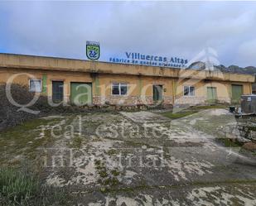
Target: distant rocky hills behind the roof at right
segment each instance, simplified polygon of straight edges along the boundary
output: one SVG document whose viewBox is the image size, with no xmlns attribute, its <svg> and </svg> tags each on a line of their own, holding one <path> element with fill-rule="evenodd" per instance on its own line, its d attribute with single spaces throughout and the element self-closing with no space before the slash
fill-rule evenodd
<svg viewBox="0 0 256 206">
<path fill-rule="evenodd" d="M 188 66 L 187 69 L 206 69 L 205 62 L 196 61 Z M 230 72 L 230 73 L 239 73 L 239 74 L 254 74 L 256 75 L 256 67 L 247 66 L 247 67 L 239 67 L 237 65 L 230 65 L 229 67 L 225 67 L 225 65 L 211 65 L 214 70 L 220 70 L 222 72 Z"/>
</svg>

